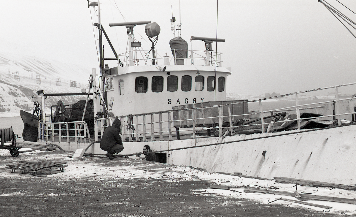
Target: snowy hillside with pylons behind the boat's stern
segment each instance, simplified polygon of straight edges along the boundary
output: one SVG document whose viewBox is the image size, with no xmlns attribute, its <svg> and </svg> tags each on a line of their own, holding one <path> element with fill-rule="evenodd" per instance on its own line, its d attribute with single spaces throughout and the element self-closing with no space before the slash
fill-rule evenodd
<svg viewBox="0 0 356 217">
<path fill-rule="evenodd" d="M 18 74 L 18 76 L 16 76 Z M 20 110 L 32 112 L 31 96 L 38 90 L 45 93 L 80 93 L 87 88 L 91 69 L 27 55 L 0 52 L 0 117 L 19 116 Z M 57 86 L 60 81 L 61 86 Z M 69 87 L 71 81 L 77 88 Z M 58 100 L 64 104 L 85 97 L 48 97 L 48 106 Z"/>
</svg>

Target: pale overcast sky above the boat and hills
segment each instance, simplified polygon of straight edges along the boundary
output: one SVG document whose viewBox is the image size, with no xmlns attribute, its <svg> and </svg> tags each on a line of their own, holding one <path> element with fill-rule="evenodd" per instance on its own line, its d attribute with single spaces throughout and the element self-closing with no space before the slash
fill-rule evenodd
<svg viewBox="0 0 356 217">
<path fill-rule="evenodd" d="M 339 1 L 356 11 L 355 0 Z M 0 40 L 7 44 L 6 48 L 0 45 L 1 51 L 12 47 L 12 53 L 99 68 L 93 33 L 97 29 L 92 26 L 95 16 L 86 0 L 0 2 Z M 191 36 L 216 37 L 216 0 L 180 2 L 182 37 L 188 49 Z M 335 0 L 328 2 L 343 9 Z M 127 33 L 125 27 L 109 27 L 112 22 L 157 22 L 161 33 L 156 48 L 169 49 L 173 38 L 169 20 L 173 11 L 179 22 L 178 0 L 100 3 L 102 24 L 117 53 L 125 52 Z M 355 14 L 347 15 L 356 22 Z M 219 0 L 217 25 L 218 38 L 226 40 L 218 43 L 217 50 L 223 53 L 223 66 L 232 72 L 227 92 L 285 94 L 356 82 L 356 38 L 317 0 Z M 135 37 L 149 49 L 144 27 L 135 27 Z M 193 46 L 204 49 L 200 41 Z M 116 64 L 107 63 L 109 67 Z M 356 89 L 349 91 L 356 93 Z"/>
</svg>

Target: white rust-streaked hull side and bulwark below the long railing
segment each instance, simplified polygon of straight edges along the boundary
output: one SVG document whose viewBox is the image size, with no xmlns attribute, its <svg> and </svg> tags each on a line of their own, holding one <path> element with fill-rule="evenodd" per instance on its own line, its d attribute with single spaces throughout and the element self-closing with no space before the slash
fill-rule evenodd
<svg viewBox="0 0 356 217">
<path fill-rule="evenodd" d="M 291 131 L 288 131 L 290 133 Z M 298 132 L 292 135 L 168 151 L 167 163 L 205 168 L 208 172 L 241 172 L 242 175 L 276 176 L 352 185 L 356 182 L 356 126 Z M 268 135 L 236 135 L 222 141 L 260 138 Z M 155 151 L 216 144 L 218 138 L 124 143 L 120 154 L 142 152 L 143 145 Z M 265 152 L 265 156 L 262 153 Z M 354 160 L 355 159 L 355 160 Z"/>
</svg>

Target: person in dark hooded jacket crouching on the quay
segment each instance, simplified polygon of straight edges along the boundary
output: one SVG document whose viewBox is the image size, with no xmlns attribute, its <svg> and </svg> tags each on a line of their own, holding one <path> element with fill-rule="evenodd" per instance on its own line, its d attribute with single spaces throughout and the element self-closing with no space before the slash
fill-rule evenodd
<svg viewBox="0 0 356 217">
<path fill-rule="evenodd" d="M 101 150 L 108 151 L 106 156 L 109 157 L 110 160 L 114 159 L 115 155 L 124 150 L 124 146 L 122 146 L 121 140 L 121 122 L 119 119 L 115 119 L 112 123 L 112 126 L 108 126 L 103 135 L 101 136 L 100 148 Z"/>
</svg>

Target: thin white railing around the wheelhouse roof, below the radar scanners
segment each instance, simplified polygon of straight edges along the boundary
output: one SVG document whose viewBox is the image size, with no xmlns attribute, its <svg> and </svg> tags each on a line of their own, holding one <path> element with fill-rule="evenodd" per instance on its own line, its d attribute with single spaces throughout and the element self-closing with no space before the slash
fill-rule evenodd
<svg viewBox="0 0 356 217">
<path fill-rule="evenodd" d="M 221 55 L 222 53 L 214 51 L 198 51 L 198 50 L 179 50 L 187 51 L 187 58 L 175 58 L 176 51 L 178 50 L 155 50 L 155 63 L 156 65 L 176 65 L 180 60 L 184 60 L 184 65 L 199 65 L 199 66 L 222 66 Z M 130 52 L 132 59 L 130 59 Z M 147 66 L 152 65 L 152 50 L 133 50 L 121 53 L 118 55 L 120 59 L 119 65 L 123 67 L 130 66 L 133 63 L 134 66 Z M 175 53 L 174 56 L 173 53 Z"/>
</svg>

